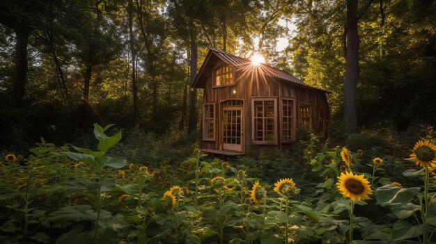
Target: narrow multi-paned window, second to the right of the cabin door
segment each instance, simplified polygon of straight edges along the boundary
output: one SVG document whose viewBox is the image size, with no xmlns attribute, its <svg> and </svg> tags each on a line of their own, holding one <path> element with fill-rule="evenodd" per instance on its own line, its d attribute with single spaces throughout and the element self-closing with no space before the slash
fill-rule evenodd
<svg viewBox="0 0 436 244">
<path fill-rule="evenodd" d="M 289 142 L 294 140 L 295 130 L 295 115 L 294 115 L 294 100 L 281 100 L 281 140 Z"/>
</svg>

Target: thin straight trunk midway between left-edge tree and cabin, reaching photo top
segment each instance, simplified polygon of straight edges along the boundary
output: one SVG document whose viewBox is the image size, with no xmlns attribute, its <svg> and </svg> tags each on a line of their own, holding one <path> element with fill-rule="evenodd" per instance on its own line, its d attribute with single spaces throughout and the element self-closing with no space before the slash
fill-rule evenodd
<svg viewBox="0 0 436 244">
<path fill-rule="evenodd" d="M 129 0 L 129 35 L 130 35 L 130 52 L 132 53 L 132 90 L 133 90 L 133 123 L 137 127 L 138 124 L 138 84 L 137 84 L 137 54 L 134 49 L 134 35 L 133 35 L 133 0 Z"/>
</svg>

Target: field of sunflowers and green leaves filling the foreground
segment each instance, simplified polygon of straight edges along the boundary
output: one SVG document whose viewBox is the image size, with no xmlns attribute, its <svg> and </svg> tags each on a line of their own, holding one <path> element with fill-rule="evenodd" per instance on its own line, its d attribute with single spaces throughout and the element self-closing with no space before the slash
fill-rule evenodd
<svg viewBox="0 0 436 244">
<path fill-rule="evenodd" d="M 176 163 L 42 140 L 0 163 L 1 243 L 434 243 L 436 145 L 403 158 L 346 145 L 306 163 L 192 150 Z M 309 148 L 309 147 L 307 147 Z"/>
</svg>

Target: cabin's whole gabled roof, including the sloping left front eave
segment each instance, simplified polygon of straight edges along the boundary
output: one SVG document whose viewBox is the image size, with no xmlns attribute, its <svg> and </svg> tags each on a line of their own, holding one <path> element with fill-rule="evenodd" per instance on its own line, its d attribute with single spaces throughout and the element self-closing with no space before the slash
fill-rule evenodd
<svg viewBox="0 0 436 244">
<path fill-rule="evenodd" d="M 215 49 L 213 47 L 208 47 L 208 49 L 209 49 L 209 52 L 208 52 L 208 55 L 206 55 L 206 58 L 203 62 L 203 65 L 201 65 L 200 70 L 198 71 L 198 74 L 196 75 L 195 79 L 192 80 L 192 82 L 190 83 L 191 87 L 198 86 L 198 81 L 201 79 L 203 71 L 205 69 L 207 69 L 206 67 L 208 66 L 208 63 L 209 63 L 210 58 L 212 57 L 212 54 L 214 56 L 217 56 L 219 59 L 223 60 L 224 63 L 226 63 L 228 65 L 235 66 L 236 68 L 238 68 L 238 70 L 245 70 L 247 66 L 251 65 L 251 60 L 249 60 L 247 58 L 235 56 L 233 54 L 229 54 L 226 51 Z M 276 67 L 272 67 L 270 65 L 266 65 L 266 64 L 261 63 L 259 65 L 259 69 L 263 70 L 265 76 L 270 76 L 271 78 L 274 78 L 274 79 L 288 81 L 291 83 L 295 83 L 298 86 L 304 86 L 306 88 L 312 88 L 312 89 L 316 89 L 316 90 L 322 90 L 324 92 L 329 92 L 327 90 L 316 88 L 315 86 L 310 86 L 310 85 L 304 83 L 303 81 L 301 81 L 300 79 L 298 79 L 297 77 L 293 76 L 292 74 L 289 74 L 288 72 L 283 71 L 283 70 L 279 70 Z"/>
</svg>

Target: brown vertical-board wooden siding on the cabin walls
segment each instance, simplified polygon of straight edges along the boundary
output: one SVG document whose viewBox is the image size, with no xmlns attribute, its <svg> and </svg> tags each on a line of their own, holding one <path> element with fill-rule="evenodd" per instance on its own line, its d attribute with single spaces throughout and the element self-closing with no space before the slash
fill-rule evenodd
<svg viewBox="0 0 436 244">
<path fill-rule="evenodd" d="M 279 79 L 273 79 L 269 76 L 265 77 L 260 74 L 256 75 L 256 72 L 247 72 L 238 70 L 235 67 L 235 83 L 231 86 L 215 87 L 215 69 L 224 65 L 224 62 L 217 60 L 215 64 L 205 69 L 207 74 L 207 80 L 205 82 L 205 88 L 203 93 L 203 102 L 215 102 L 215 141 L 205 141 L 201 140 L 201 148 L 204 149 L 221 149 L 222 141 L 222 107 L 221 102 L 230 99 L 241 99 L 243 101 L 243 121 L 244 121 L 244 152 L 246 154 L 250 153 L 250 149 L 254 142 L 251 140 L 251 99 L 252 98 L 267 98 L 274 97 L 277 99 L 277 111 L 276 116 L 279 124 L 277 125 L 278 134 L 278 145 L 281 145 L 281 98 L 291 98 L 295 99 L 295 111 L 294 116 L 296 117 L 295 129 L 293 133 L 296 133 L 296 127 L 298 127 L 299 121 L 299 104 L 311 104 L 311 128 L 315 133 L 323 134 L 327 136 L 327 130 L 323 129 L 318 131 L 318 112 L 321 109 L 325 117 L 324 126 L 327 127 L 327 121 L 329 119 L 329 108 L 327 104 L 327 98 L 325 91 L 316 90 L 312 88 L 306 88 L 298 86 L 289 81 L 283 81 Z M 242 76 L 242 74 L 244 74 Z M 203 119 L 201 120 L 203 123 Z M 201 128 L 203 129 L 203 128 Z M 257 147 L 257 146 L 256 146 Z"/>
</svg>

